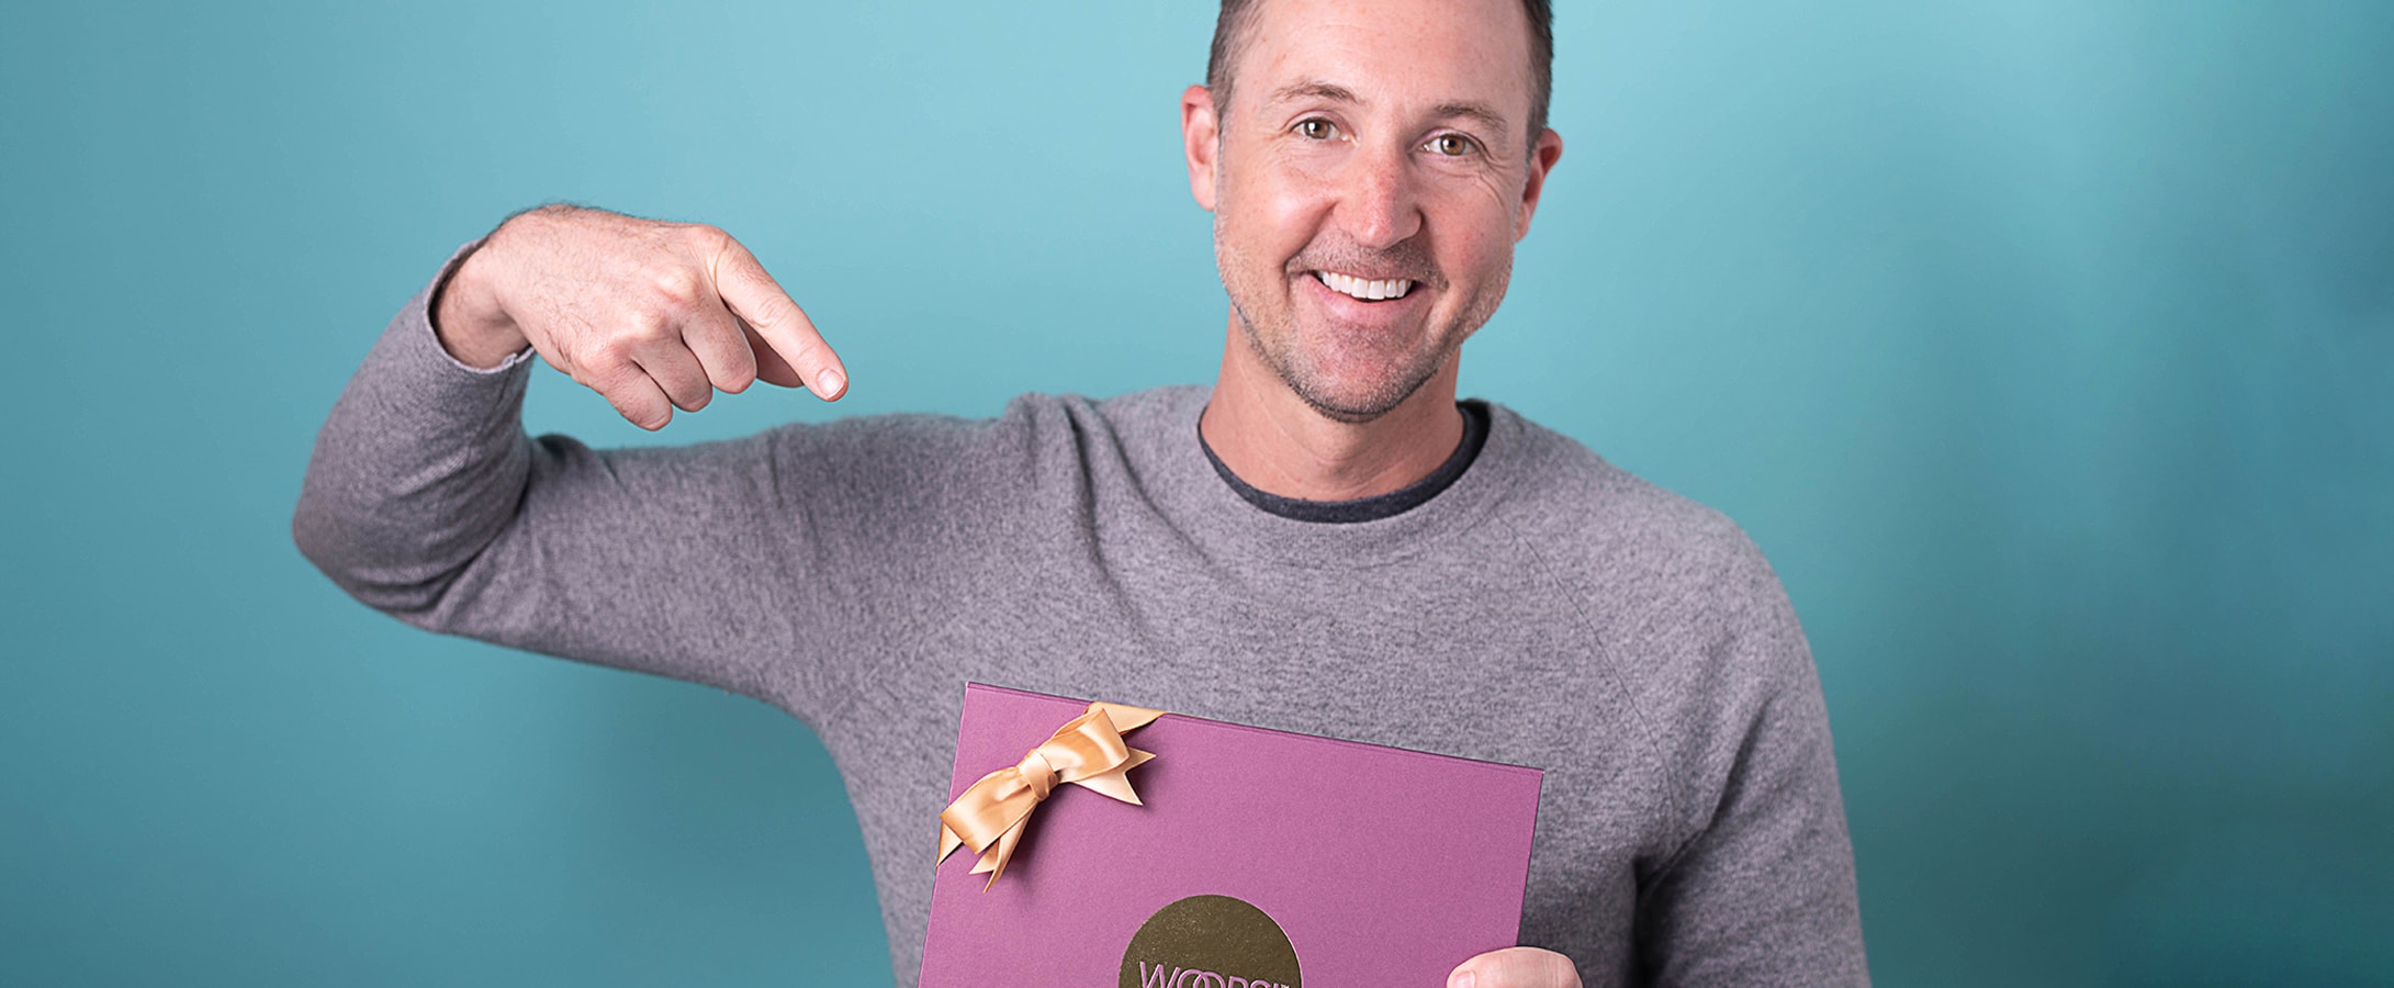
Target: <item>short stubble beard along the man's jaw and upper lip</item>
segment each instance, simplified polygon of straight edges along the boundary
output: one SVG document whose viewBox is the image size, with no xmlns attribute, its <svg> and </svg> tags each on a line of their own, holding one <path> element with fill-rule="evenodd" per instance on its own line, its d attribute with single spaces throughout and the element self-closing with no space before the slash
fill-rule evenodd
<svg viewBox="0 0 2394 988">
<path fill-rule="evenodd" d="M 1448 328 L 1451 333 L 1432 335 L 1434 340 L 1439 340 L 1439 344 L 1417 349 L 1400 368 L 1396 368 L 1396 373 L 1374 380 L 1362 395 L 1336 395 L 1329 380 L 1324 380 L 1324 373 L 1317 366 L 1312 366 L 1312 361 L 1307 361 L 1310 354 L 1305 354 L 1302 347 L 1295 344 L 1298 337 L 1295 306 L 1271 311 L 1269 306 L 1257 304 L 1269 299 L 1269 292 L 1288 294 L 1290 292 L 1288 282 L 1295 278 L 1312 278 L 1310 273 L 1298 270 L 1298 268 L 1312 270 L 1312 266 L 1302 261 L 1302 254 L 1298 261 L 1290 261 L 1290 266 L 1286 266 L 1278 273 L 1278 282 L 1247 285 L 1245 273 L 1254 270 L 1254 266 L 1250 266 L 1245 261 L 1245 254 L 1231 246 L 1231 239 L 1223 237 L 1221 211 L 1216 211 L 1214 266 L 1221 273 L 1223 292 L 1231 297 L 1231 313 L 1238 316 L 1240 335 L 1247 337 L 1247 349 L 1254 352 L 1254 356 L 1264 366 L 1269 366 L 1274 376 L 1281 378 L 1281 385 L 1286 385 L 1293 395 L 1298 395 L 1298 400 L 1305 402 L 1310 409 L 1314 409 L 1324 419 L 1350 426 L 1377 421 L 1379 416 L 1396 411 L 1396 407 L 1405 404 L 1405 400 L 1410 400 L 1417 390 L 1422 390 L 1422 385 L 1427 385 L 1429 378 L 1436 378 L 1439 371 L 1446 371 L 1446 364 L 1453 361 L 1456 354 L 1463 349 L 1463 340 L 1468 340 L 1472 333 L 1487 325 L 1489 316 L 1496 313 L 1496 304 L 1503 301 L 1506 285 L 1513 280 L 1513 258 L 1506 258 L 1503 266 L 1494 273 L 1494 282 L 1487 285 L 1482 292 L 1477 292 L 1477 297 L 1470 299 L 1463 313 L 1456 316 L 1453 325 Z M 1420 266 L 1427 268 L 1427 258 L 1422 258 Z M 1338 270 L 1338 266 L 1329 268 Z M 1436 285 L 1439 289 L 1446 287 L 1446 280 L 1436 278 L 1434 270 L 1424 273 L 1429 278 L 1422 278 L 1424 285 L 1415 287 L 1417 292 L 1432 285 Z M 1271 333 L 1257 328 L 1254 318 L 1257 311 L 1278 316 L 1274 325 L 1269 325 Z"/>
</svg>

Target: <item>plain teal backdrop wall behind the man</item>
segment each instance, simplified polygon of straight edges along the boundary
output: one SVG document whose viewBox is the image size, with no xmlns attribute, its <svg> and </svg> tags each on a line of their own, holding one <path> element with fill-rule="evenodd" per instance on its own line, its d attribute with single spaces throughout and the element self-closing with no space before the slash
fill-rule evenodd
<svg viewBox="0 0 2394 988">
<path fill-rule="evenodd" d="M 309 440 L 551 199 L 733 230 L 855 390 L 651 438 L 541 371 L 536 431 L 1207 380 L 1209 26 L 10 2 L 0 983 L 886 983 L 802 725 L 350 603 L 290 545 Z M 2394 2 L 1556 33 L 1568 153 L 1465 390 L 1772 555 L 1879 983 L 2394 983 Z"/>
</svg>

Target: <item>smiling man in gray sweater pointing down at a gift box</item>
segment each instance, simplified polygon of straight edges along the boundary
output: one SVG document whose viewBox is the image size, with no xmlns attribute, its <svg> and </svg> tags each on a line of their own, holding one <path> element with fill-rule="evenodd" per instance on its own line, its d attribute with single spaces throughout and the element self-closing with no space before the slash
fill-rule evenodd
<svg viewBox="0 0 2394 988">
<path fill-rule="evenodd" d="M 527 354 L 661 428 L 847 371 L 713 227 L 517 215 L 369 354 L 294 533 L 414 624 L 807 720 L 900 981 L 962 682 L 1547 770 L 1525 947 L 1453 986 L 1858 983 L 1827 715 L 1719 514 L 1456 402 L 1563 144 L 1542 0 L 1231 0 L 1180 100 L 1231 297 L 1211 390 L 994 421 L 527 440 Z M 1458 828 L 1472 821 L 1456 821 Z"/>
</svg>

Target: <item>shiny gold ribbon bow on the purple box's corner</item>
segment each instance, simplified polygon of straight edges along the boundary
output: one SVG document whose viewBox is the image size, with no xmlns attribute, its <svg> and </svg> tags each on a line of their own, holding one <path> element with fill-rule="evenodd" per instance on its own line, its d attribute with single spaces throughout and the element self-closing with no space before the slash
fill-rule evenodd
<svg viewBox="0 0 2394 988">
<path fill-rule="evenodd" d="M 989 890 L 1005 873 L 1005 859 L 1022 842 L 1022 828 L 1032 811 L 1049 792 L 1056 792 L 1058 782 L 1082 785 L 1142 806 L 1140 794 L 1130 789 L 1130 770 L 1154 754 L 1132 749 L 1123 734 L 1147 727 L 1161 715 L 1163 710 L 1137 706 L 1089 703 L 1087 713 L 1058 727 L 1056 737 L 1022 756 L 1022 763 L 982 775 L 938 813 L 938 861 L 946 861 L 958 847 L 972 844 L 974 852 L 982 852 L 972 873 L 986 871 L 989 885 L 982 890 Z"/>
</svg>

